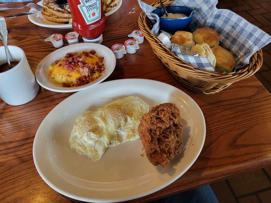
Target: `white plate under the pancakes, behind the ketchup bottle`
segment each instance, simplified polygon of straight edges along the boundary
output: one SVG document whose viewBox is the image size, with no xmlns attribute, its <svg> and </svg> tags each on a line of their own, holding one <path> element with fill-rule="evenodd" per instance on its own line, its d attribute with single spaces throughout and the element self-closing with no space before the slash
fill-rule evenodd
<svg viewBox="0 0 271 203">
<path fill-rule="evenodd" d="M 42 6 L 42 1 L 38 2 L 37 4 Z M 115 13 L 119 7 L 122 6 L 122 0 L 119 0 L 119 3 L 118 5 L 116 5 L 111 11 L 107 12 L 105 14 L 105 16 L 109 16 L 113 13 Z M 34 9 L 30 9 L 29 12 L 32 12 L 32 11 L 35 11 Z M 49 28 L 58 28 L 58 29 L 71 29 L 72 28 L 72 24 L 67 24 L 67 23 L 56 23 L 56 22 L 51 22 L 51 21 L 48 21 L 46 20 L 41 12 L 37 12 L 37 13 L 34 13 L 32 15 L 28 15 L 28 19 L 29 21 L 31 21 L 33 24 L 35 25 L 38 25 L 38 26 L 41 26 L 41 27 L 49 27 Z"/>
</svg>

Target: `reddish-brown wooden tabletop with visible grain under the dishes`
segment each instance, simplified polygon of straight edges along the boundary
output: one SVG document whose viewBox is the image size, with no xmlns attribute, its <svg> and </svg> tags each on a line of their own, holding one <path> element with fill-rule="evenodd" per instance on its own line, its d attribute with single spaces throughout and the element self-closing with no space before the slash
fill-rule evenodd
<svg viewBox="0 0 271 203">
<path fill-rule="evenodd" d="M 0 15 L 27 10 L 0 12 Z M 138 28 L 140 12 L 137 1 L 123 1 L 122 7 L 108 17 L 103 45 L 110 47 L 129 39 L 127 35 Z M 44 39 L 52 33 L 65 35 L 71 31 L 39 27 L 29 22 L 27 16 L 7 19 L 7 26 L 8 43 L 24 50 L 34 73 L 38 63 L 56 50 Z M 123 78 L 152 79 L 179 88 L 196 101 L 206 121 L 203 150 L 189 171 L 168 187 L 131 202 L 147 202 L 271 162 L 271 96 L 255 76 L 216 94 L 195 93 L 170 75 L 145 40 L 136 54 L 117 59 L 116 68 L 107 81 Z M 35 133 L 42 120 L 71 94 L 41 88 L 25 105 L 10 106 L 0 101 L 0 202 L 75 202 L 41 179 L 32 155 Z"/>
</svg>

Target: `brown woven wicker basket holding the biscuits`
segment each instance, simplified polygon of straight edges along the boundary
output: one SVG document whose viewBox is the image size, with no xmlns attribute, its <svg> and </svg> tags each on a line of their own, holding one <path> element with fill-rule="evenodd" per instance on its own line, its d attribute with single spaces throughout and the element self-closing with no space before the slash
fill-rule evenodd
<svg viewBox="0 0 271 203">
<path fill-rule="evenodd" d="M 163 1 L 169 5 L 173 0 Z M 152 4 L 160 7 L 160 3 Z M 250 59 L 250 63 L 242 70 L 232 73 L 217 73 L 202 71 L 190 63 L 182 60 L 172 53 L 150 30 L 153 23 L 142 11 L 139 15 L 138 24 L 145 38 L 152 46 L 153 51 L 167 67 L 168 71 L 185 87 L 200 93 L 211 94 L 220 92 L 232 83 L 246 79 L 256 73 L 262 65 L 262 50 L 258 50 Z"/>
</svg>

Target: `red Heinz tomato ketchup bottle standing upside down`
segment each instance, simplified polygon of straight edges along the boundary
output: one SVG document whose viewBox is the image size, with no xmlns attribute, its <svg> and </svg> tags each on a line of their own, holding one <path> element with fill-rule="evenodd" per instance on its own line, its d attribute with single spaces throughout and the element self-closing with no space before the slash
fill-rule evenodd
<svg viewBox="0 0 271 203">
<path fill-rule="evenodd" d="M 87 39 L 101 37 L 106 27 L 102 0 L 68 0 L 72 14 L 72 26 Z"/>
</svg>

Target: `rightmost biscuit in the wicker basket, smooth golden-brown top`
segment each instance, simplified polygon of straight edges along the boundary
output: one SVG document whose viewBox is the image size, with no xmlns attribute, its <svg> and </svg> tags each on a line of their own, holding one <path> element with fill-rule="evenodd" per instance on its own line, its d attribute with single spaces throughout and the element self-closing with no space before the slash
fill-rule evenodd
<svg viewBox="0 0 271 203">
<path fill-rule="evenodd" d="M 233 55 L 223 49 L 221 46 L 216 46 L 212 49 L 214 55 L 216 56 L 216 69 L 218 72 L 232 72 L 233 67 L 236 64 L 236 60 Z"/>
</svg>

